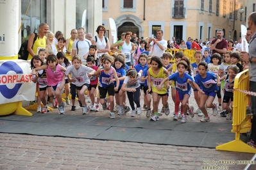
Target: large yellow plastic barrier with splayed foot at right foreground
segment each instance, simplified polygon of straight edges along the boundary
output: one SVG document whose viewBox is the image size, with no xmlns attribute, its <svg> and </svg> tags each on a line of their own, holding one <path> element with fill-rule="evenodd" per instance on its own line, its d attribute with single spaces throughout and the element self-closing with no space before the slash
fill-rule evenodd
<svg viewBox="0 0 256 170">
<path fill-rule="evenodd" d="M 235 77 L 234 89 L 249 90 L 249 83 L 249 72 L 248 70 L 244 70 Z M 235 133 L 235 140 L 217 146 L 216 150 L 256 153 L 255 148 L 252 148 L 252 146 L 249 146 L 240 139 L 241 133 L 246 133 L 252 128 L 252 116 L 246 116 L 248 97 L 250 96 L 234 90 L 233 123 L 231 132 Z"/>
</svg>

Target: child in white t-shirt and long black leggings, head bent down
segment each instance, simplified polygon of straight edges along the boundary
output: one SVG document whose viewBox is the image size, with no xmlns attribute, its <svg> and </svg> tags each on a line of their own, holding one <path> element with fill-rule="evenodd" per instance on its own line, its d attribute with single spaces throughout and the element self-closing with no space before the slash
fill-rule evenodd
<svg viewBox="0 0 256 170">
<path fill-rule="evenodd" d="M 142 70 L 137 73 L 137 71 L 134 68 L 131 68 L 127 71 L 126 77 L 124 79 L 123 85 L 121 90 L 127 91 L 127 97 L 130 102 L 130 106 L 132 107 L 132 113 L 131 116 L 135 116 L 135 106 L 134 102 L 137 105 L 137 113 L 138 115 L 141 114 L 141 104 L 139 100 L 139 94 L 140 94 L 140 84 L 139 79 L 141 78 Z"/>
</svg>

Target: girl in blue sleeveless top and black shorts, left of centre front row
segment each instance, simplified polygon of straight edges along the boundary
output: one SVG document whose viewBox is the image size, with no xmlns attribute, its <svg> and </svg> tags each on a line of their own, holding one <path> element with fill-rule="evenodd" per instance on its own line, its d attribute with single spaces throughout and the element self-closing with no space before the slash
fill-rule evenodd
<svg viewBox="0 0 256 170">
<path fill-rule="evenodd" d="M 105 97 L 108 93 L 110 102 L 110 119 L 115 118 L 114 95 L 115 91 L 117 91 L 119 87 L 119 79 L 117 77 L 117 73 L 115 72 L 115 68 L 111 66 L 113 62 L 113 57 L 106 53 L 104 56 L 101 56 L 101 63 L 103 66 L 100 66 L 97 72 L 94 73 L 94 75 L 99 74 L 99 97 L 104 111 L 107 109 L 107 100 L 105 100 Z M 113 76 L 115 78 L 116 87 L 112 81 Z"/>
</svg>

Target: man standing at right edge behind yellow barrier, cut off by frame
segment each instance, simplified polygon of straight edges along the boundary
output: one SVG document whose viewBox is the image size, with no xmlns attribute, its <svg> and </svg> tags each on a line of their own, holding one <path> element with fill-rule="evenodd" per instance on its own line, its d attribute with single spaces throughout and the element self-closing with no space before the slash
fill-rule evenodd
<svg viewBox="0 0 256 170">
<path fill-rule="evenodd" d="M 248 17 L 248 27 L 252 31 L 252 36 L 249 42 L 249 55 L 247 52 L 242 52 L 241 57 L 243 61 L 249 61 L 249 77 L 250 77 L 250 91 L 256 92 L 256 12 L 253 12 Z M 250 146 L 256 148 L 256 97 L 251 96 L 252 99 L 252 140 L 248 142 Z"/>
</svg>

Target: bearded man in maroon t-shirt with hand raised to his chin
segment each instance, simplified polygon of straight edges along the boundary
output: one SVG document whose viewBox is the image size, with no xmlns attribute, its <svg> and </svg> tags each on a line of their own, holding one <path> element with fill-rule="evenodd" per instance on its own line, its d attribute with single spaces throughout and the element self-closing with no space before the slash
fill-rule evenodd
<svg viewBox="0 0 256 170">
<path fill-rule="evenodd" d="M 212 50 L 212 55 L 214 53 L 219 53 L 221 56 L 226 52 L 228 48 L 228 42 L 223 38 L 224 33 L 221 29 L 217 31 L 217 38 L 212 40 L 210 43 L 210 50 Z"/>
</svg>

